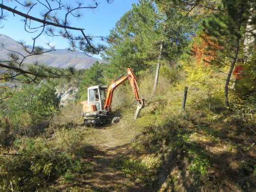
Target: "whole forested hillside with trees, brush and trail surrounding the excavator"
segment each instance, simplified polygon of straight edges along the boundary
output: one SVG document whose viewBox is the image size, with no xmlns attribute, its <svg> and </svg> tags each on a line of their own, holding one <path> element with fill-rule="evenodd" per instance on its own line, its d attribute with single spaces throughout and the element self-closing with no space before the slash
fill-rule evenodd
<svg viewBox="0 0 256 192">
<path fill-rule="evenodd" d="M 23 83 L 1 102 L 0 191 L 256 191 L 255 7 L 139 0 L 110 31 L 105 63 Z M 139 118 L 127 82 L 114 91 L 119 123 L 84 124 L 87 88 L 127 68 Z M 79 90 L 64 107 L 63 87 Z"/>
</svg>

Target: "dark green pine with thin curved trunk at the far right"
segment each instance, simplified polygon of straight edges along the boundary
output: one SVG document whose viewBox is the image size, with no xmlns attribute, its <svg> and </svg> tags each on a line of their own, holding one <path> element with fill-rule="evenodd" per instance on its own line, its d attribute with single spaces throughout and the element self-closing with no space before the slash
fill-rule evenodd
<svg viewBox="0 0 256 192">
<path fill-rule="evenodd" d="M 214 62 L 230 66 L 225 83 L 225 105 L 227 107 L 229 107 L 228 88 L 232 71 L 238 59 L 244 59 L 243 44 L 249 11 L 250 1 L 226 0 L 219 5 L 218 12 L 203 22 L 204 33 L 213 37 L 215 44 L 218 45 L 218 49 L 216 46 L 209 46 L 209 49 L 216 51 Z"/>
</svg>

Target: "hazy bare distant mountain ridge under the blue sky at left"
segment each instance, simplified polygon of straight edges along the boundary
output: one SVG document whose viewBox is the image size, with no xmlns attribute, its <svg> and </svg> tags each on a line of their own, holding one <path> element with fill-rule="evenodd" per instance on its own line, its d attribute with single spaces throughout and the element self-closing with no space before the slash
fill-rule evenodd
<svg viewBox="0 0 256 192">
<path fill-rule="evenodd" d="M 5 48 L 8 50 L 16 51 L 23 55 L 28 55 L 25 51 L 23 51 L 22 46 L 18 44 L 17 41 L 12 38 L 1 35 L 0 36 L 0 44 L 4 44 Z M 29 46 L 32 48 L 32 46 Z M 48 51 L 50 49 L 45 49 Z M 2 45 L 0 48 L 0 58 L 8 59 L 9 51 L 3 49 Z M 32 63 L 33 61 L 44 62 L 47 66 L 57 67 L 57 68 L 68 68 L 75 67 L 76 69 L 87 69 L 90 68 L 95 61 L 103 62 L 100 59 L 95 57 L 89 57 L 81 52 L 71 52 L 66 49 L 57 49 L 56 51 L 51 51 L 49 53 L 44 53 L 40 56 L 31 56 L 26 59 L 26 63 Z"/>
</svg>

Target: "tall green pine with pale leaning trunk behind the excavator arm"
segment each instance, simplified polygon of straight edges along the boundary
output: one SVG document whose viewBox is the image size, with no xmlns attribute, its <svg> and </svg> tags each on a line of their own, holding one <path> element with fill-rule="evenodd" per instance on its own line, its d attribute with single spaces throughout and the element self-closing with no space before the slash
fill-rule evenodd
<svg viewBox="0 0 256 192">
<path fill-rule="evenodd" d="M 111 40 L 109 48 L 102 55 L 110 63 L 106 71 L 121 74 L 127 67 L 135 73 L 156 69 L 154 94 L 160 64 L 180 55 L 189 40 L 185 28 L 176 25 L 178 22 L 177 17 L 167 18 L 166 12 L 160 14 L 154 1 L 140 0 L 134 4 L 108 37 Z"/>
</svg>

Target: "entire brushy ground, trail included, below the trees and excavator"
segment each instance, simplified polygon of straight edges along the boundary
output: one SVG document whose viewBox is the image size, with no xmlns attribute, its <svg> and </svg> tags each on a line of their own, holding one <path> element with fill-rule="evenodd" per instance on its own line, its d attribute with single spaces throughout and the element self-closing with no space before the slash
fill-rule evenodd
<svg viewBox="0 0 256 192">
<path fill-rule="evenodd" d="M 121 108 L 115 129 L 79 125 L 79 103 L 67 105 L 0 147 L 0 191 L 256 191 L 255 101 L 231 92 L 226 109 L 220 84 L 203 80 L 183 111 L 185 86 L 161 83 L 136 121 Z"/>
</svg>

